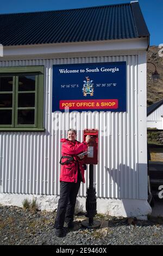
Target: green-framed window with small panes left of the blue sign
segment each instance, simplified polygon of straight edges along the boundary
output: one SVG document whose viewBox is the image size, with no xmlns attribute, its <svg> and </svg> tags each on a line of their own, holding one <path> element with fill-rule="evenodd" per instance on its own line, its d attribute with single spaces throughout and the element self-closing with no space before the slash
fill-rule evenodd
<svg viewBox="0 0 163 256">
<path fill-rule="evenodd" d="M 0 130 L 44 130 L 43 66 L 0 68 Z"/>
</svg>

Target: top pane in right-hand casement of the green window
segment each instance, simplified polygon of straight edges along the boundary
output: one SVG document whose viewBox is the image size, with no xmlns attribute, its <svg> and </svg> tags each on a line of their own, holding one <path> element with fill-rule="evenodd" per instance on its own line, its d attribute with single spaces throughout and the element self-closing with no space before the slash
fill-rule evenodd
<svg viewBox="0 0 163 256">
<path fill-rule="evenodd" d="M 35 76 L 18 76 L 18 90 L 35 90 Z"/>
</svg>

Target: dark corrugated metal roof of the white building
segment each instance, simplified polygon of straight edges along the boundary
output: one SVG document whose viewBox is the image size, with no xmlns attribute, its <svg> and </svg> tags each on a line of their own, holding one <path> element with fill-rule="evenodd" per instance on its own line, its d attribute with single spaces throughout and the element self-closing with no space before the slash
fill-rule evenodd
<svg viewBox="0 0 163 256">
<path fill-rule="evenodd" d="M 138 20 L 132 8 L 136 8 Z M 139 34 L 137 27 L 140 26 Z M 149 36 L 149 32 L 139 3 L 0 15 L 3 46 L 127 39 L 142 35 Z"/>
</svg>

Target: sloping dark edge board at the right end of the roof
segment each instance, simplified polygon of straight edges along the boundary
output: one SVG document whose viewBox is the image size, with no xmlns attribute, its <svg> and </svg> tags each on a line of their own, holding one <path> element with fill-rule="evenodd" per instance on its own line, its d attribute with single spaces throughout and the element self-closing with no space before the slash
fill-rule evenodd
<svg viewBox="0 0 163 256">
<path fill-rule="evenodd" d="M 145 19 L 143 18 L 139 2 L 138 1 L 135 1 L 135 2 L 131 1 L 130 3 L 131 3 L 131 10 L 133 12 L 133 17 L 134 17 L 134 21 L 135 21 L 137 35 L 139 37 L 147 37 L 148 38 L 148 47 L 149 47 L 150 34 L 149 34 L 149 31 L 148 31 Z"/>
</svg>

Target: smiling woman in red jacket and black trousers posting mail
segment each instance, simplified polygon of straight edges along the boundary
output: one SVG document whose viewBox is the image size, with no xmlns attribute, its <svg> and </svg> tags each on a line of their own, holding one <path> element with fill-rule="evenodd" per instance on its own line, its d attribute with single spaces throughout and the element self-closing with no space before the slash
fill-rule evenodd
<svg viewBox="0 0 163 256">
<path fill-rule="evenodd" d="M 73 228 L 74 208 L 80 182 L 84 179 L 84 156 L 78 154 L 87 151 L 87 143 L 91 136 L 86 136 L 85 142 L 76 141 L 76 130 L 70 129 L 67 132 L 67 139 L 61 139 L 61 174 L 60 174 L 60 199 L 58 202 L 57 216 L 55 218 L 55 234 L 64 236 L 64 222 L 68 228 Z"/>
</svg>

